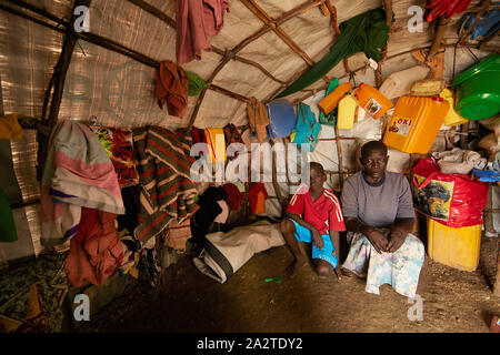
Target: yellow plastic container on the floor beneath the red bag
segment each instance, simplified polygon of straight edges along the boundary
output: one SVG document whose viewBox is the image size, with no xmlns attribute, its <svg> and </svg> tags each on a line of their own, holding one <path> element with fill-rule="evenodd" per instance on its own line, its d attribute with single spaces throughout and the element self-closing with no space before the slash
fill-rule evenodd
<svg viewBox="0 0 500 355">
<path fill-rule="evenodd" d="M 427 219 L 429 256 L 441 264 L 474 271 L 479 263 L 482 224 L 453 229 Z"/>
</svg>

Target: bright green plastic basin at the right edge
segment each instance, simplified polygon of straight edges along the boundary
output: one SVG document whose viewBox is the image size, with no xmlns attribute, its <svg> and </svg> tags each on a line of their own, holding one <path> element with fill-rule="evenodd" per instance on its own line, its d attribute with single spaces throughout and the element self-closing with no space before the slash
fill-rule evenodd
<svg viewBox="0 0 500 355">
<path fill-rule="evenodd" d="M 491 54 L 453 80 L 456 111 L 469 120 L 483 120 L 500 111 L 500 55 Z"/>
</svg>

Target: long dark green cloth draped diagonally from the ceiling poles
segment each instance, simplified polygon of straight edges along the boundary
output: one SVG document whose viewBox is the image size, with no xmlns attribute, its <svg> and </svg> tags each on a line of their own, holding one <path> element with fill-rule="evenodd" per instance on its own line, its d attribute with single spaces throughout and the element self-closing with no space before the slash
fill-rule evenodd
<svg viewBox="0 0 500 355">
<path fill-rule="evenodd" d="M 336 44 L 314 67 L 309 69 L 290 87 L 279 93 L 276 99 L 292 94 L 307 88 L 336 67 L 343 58 L 349 58 L 360 51 L 367 57 L 379 61 L 382 57 L 379 48 L 383 48 L 389 40 L 389 27 L 386 23 L 386 12 L 374 9 L 360 13 L 339 27 L 340 37 Z"/>
</svg>

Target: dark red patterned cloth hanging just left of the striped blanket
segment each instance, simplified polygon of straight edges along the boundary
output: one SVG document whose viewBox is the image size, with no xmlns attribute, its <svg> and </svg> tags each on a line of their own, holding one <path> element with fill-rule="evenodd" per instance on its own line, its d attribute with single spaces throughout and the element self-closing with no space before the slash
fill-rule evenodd
<svg viewBox="0 0 500 355">
<path fill-rule="evenodd" d="M 90 130 L 113 163 L 120 187 L 137 185 L 139 175 L 133 160 L 132 131 L 97 125 L 90 125 Z"/>
</svg>

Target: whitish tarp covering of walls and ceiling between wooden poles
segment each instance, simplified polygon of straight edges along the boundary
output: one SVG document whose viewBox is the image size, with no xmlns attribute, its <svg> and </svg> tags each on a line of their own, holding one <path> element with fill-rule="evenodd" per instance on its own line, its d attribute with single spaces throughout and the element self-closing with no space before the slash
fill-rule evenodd
<svg viewBox="0 0 500 355">
<path fill-rule="evenodd" d="M 72 1 L 66 0 L 31 0 L 58 17 L 69 19 Z M 171 18 L 174 14 L 173 0 L 148 0 L 148 3 L 160 9 Z M 268 11 L 272 18 L 281 17 L 304 0 L 259 0 L 259 6 Z M 410 6 L 424 7 L 424 0 L 393 1 L 396 23 L 388 44 L 388 59 L 382 64 L 382 75 L 411 68 L 418 64 L 411 57 L 411 49 L 429 47 L 432 36 L 429 24 L 423 21 L 423 31 L 410 33 L 407 23 L 411 18 L 408 12 Z M 474 0 L 471 7 L 477 7 Z M 370 9 L 381 7 L 380 0 L 339 0 L 333 4 L 338 10 L 338 23 Z M 444 39 L 454 42 L 457 39 L 457 21 L 452 19 Z M 224 27 L 219 36 L 211 38 L 212 45 L 221 50 L 231 50 L 242 40 L 256 33 L 263 23 L 253 16 L 240 1 L 231 1 L 230 12 L 224 17 Z M 319 61 L 334 43 L 336 34 L 330 23 L 330 17 L 321 14 L 318 8 L 292 18 L 281 24 L 293 41 L 313 60 Z M 176 31 L 163 21 L 141 10 L 134 4 L 123 1 L 94 0 L 90 8 L 90 31 L 111 39 L 124 47 L 136 50 L 154 61 L 176 59 Z M 62 47 L 62 34 L 33 23 L 14 14 L 0 10 L 0 78 L 4 113 L 18 113 L 39 118 L 42 111 L 44 91 L 52 75 L 53 67 Z M 498 40 L 491 45 L 498 44 Z M 488 55 L 488 52 L 464 48 L 453 50 L 449 47 L 444 54 L 444 79 L 450 80 L 453 73 L 474 63 L 477 59 Z M 400 53 L 404 53 L 399 55 Z M 281 81 L 290 82 L 298 73 L 307 68 L 306 62 L 294 53 L 273 31 L 269 31 L 258 40 L 246 45 L 238 55 L 253 60 L 271 72 Z M 476 57 L 474 57 L 476 55 Z M 184 64 L 186 70 L 197 72 L 202 79 L 209 79 L 219 65 L 222 57 L 214 52 L 203 52 L 202 60 Z M 454 63 L 454 68 L 453 68 Z M 366 82 L 374 85 L 374 72 L 367 67 L 367 58 L 358 53 L 349 59 L 351 70 L 356 71 L 356 83 Z M 363 69 L 364 68 L 364 69 Z M 339 77 L 346 82 L 348 75 L 342 63 L 329 73 L 329 78 Z M 188 111 L 184 118 L 171 116 L 167 110 L 160 110 L 154 94 L 154 69 L 122 54 L 111 52 L 104 48 L 79 40 L 74 48 L 69 67 L 64 92 L 60 108 L 60 119 L 89 120 L 96 116 L 99 124 L 131 128 L 147 124 L 159 124 L 169 129 L 186 126 L 192 115 L 197 97 L 189 98 Z M 243 97 L 256 97 L 259 100 L 270 100 L 281 87 L 278 82 L 264 75 L 254 67 L 239 61 L 229 63 L 216 75 L 213 84 L 231 90 Z M 307 100 L 313 91 L 316 97 L 304 101 L 317 111 L 313 101 L 322 98 L 321 90 L 327 83 L 319 80 L 304 91 L 287 98 L 290 102 Z M 313 91 L 311 91 L 313 90 Z M 248 123 L 244 102 L 234 100 L 221 93 L 208 90 L 201 102 L 194 121 L 197 128 L 224 126 L 232 122 L 236 125 Z M 381 136 L 381 121 L 366 116 L 358 122 L 353 130 L 340 130 L 340 135 L 356 140 L 342 140 L 342 163 L 344 172 L 351 172 L 356 166 L 356 150 L 362 141 Z M 437 138 L 434 150 L 444 150 L 444 131 Z M 334 130 L 324 126 L 320 133 L 321 140 L 336 138 Z M 29 230 L 37 244 L 39 232 L 38 204 L 30 205 L 39 199 L 38 182 L 34 175 L 37 151 L 34 132 L 26 131 L 21 142 L 12 142 L 14 153 L 16 176 L 21 185 L 23 201 L 28 206 Z M 404 172 L 409 168 L 409 154 L 390 150 L 389 170 Z M 338 153 L 334 141 L 320 141 L 310 160 L 318 161 L 332 173 L 329 174 L 327 185 L 339 190 Z M 287 186 L 280 184 L 283 195 Z M 276 196 L 272 183 L 267 183 L 269 195 Z M 276 199 L 267 202 L 268 213 L 280 215 L 279 203 Z M 28 211 L 29 210 L 29 211 Z M 0 247 L 0 252 L 3 246 Z M 0 254 L 0 257 L 1 254 Z M 4 256 L 3 256 L 4 257 Z M 7 256 L 9 257 L 9 256 Z M 0 258 L 1 261 L 1 258 Z"/>
</svg>

